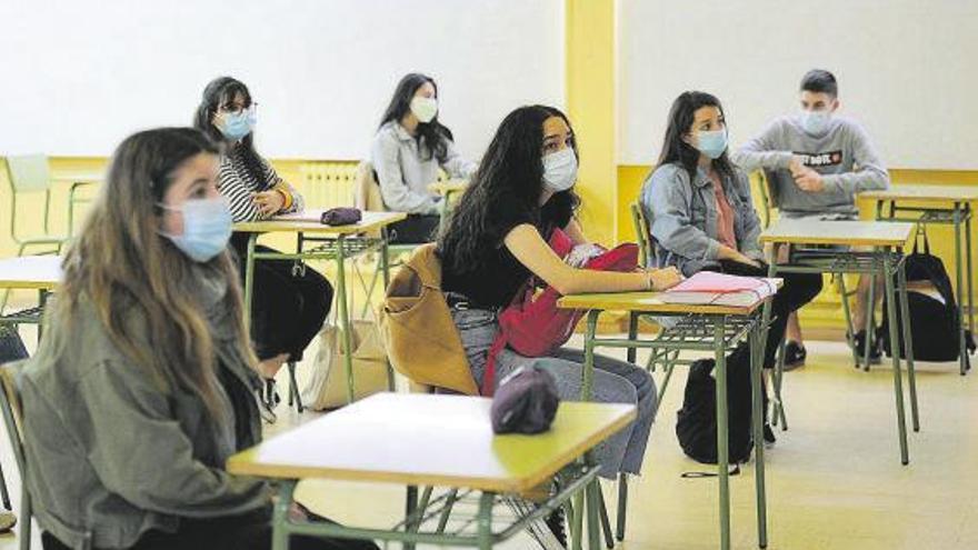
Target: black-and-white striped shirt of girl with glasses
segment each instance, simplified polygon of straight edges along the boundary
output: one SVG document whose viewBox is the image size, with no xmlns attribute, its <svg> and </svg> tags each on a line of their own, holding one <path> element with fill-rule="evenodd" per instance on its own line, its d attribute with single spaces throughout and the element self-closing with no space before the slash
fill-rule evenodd
<svg viewBox="0 0 978 550">
<path fill-rule="evenodd" d="M 261 179 L 255 178 L 248 171 L 244 161 L 244 148 L 238 143 L 234 144 L 227 154 L 221 157 L 221 163 L 218 168 L 218 191 L 228 198 L 231 203 L 231 218 L 234 222 L 255 221 L 267 219 L 280 213 L 300 212 L 305 209 L 302 196 L 290 186 L 286 180 L 279 178 L 271 164 L 262 159 Z M 262 214 L 251 193 L 270 191 L 280 188 L 292 196 L 292 204 L 273 214 Z M 288 201 L 287 201 L 288 202 Z"/>
</svg>

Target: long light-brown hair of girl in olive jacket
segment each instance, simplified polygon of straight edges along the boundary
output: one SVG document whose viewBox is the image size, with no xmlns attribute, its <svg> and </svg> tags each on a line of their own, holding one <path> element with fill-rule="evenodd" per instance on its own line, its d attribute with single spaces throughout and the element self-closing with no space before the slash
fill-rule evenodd
<svg viewBox="0 0 978 550">
<path fill-rule="evenodd" d="M 91 304 L 111 341 L 161 391 L 176 388 L 200 397 L 220 422 L 214 343 L 194 292 L 200 271 L 160 236 L 160 203 L 173 176 L 198 154 L 218 149 L 192 128 L 161 128 L 127 138 L 116 149 L 108 179 L 63 260 L 63 283 L 44 320 L 48 350 L 70 356 L 64 342 L 81 302 Z M 227 282 L 223 308 L 233 323 L 238 351 L 257 366 L 244 330 L 238 274 L 230 253 L 202 266 Z M 133 322 L 134 321 L 134 322 Z M 47 346 L 42 346 L 44 348 Z"/>
</svg>

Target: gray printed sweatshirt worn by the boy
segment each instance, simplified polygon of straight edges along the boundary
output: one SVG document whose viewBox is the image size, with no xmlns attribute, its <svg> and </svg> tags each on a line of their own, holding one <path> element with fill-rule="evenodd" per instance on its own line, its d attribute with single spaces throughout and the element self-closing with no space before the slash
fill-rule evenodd
<svg viewBox="0 0 978 550">
<path fill-rule="evenodd" d="M 795 183 L 788 170 L 792 154 L 822 176 L 821 192 L 802 191 Z M 781 117 L 731 158 L 748 172 L 764 169 L 775 206 L 788 217 L 855 214 L 856 193 L 886 189 L 890 182 L 866 131 L 842 117 L 832 117 L 824 136 L 806 133 L 798 116 Z"/>
</svg>

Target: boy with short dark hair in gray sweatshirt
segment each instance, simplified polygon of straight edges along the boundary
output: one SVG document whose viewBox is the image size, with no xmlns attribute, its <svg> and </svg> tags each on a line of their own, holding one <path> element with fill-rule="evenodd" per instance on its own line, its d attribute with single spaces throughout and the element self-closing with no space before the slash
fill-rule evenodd
<svg viewBox="0 0 978 550">
<path fill-rule="evenodd" d="M 866 131 L 857 122 L 835 116 L 839 88 L 829 71 L 814 69 L 801 79 L 801 112 L 780 117 L 736 153 L 745 171 L 762 169 L 771 198 L 787 218 L 841 216 L 856 218 L 856 193 L 886 189 L 886 167 Z M 866 346 L 866 311 L 870 278 L 861 277 L 856 294 L 856 344 Z M 876 292 L 879 298 L 882 292 Z M 805 363 L 801 328 L 792 313 L 787 329 L 786 367 Z M 872 338 L 872 334 L 869 336 Z M 879 362 L 879 347 L 870 342 L 870 362 Z M 860 354 L 861 357 L 861 354 Z"/>
</svg>

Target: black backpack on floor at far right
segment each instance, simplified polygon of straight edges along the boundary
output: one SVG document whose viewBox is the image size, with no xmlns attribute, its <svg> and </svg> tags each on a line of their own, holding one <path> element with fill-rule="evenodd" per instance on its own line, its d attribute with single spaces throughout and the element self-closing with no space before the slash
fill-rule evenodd
<svg viewBox="0 0 978 550">
<path fill-rule="evenodd" d="M 924 253 L 920 253 L 918 248 L 919 239 L 915 239 L 914 253 L 904 260 L 906 262 L 907 282 L 929 282 L 940 294 L 941 299 L 939 300 L 922 292 L 907 292 L 907 303 L 910 312 L 910 337 L 914 339 L 914 359 L 921 361 L 957 361 L 961 352 L 958 336 L 961 326 L 958 319 L 958 304 L 955 300 L 951 280 L 940 258 L 930 253 L 930 242 L 927 239 L 927 233 L 920 230 L 918 231 L 918 237 L 920 234 L 924 236 Z M 894 277 L 894 288 L 897 288 L 896 284 L 897 279 Z M 885 300 L 882 306 L 882 324 L 877 329 L 877 336 L 882 344 L 882 350 L 887 356 L 892 357 L 888 317 L 889 306 Z M 898 351 L 900 359 L 906 359 L 904 357 L 904 321 L 901 317 L 898 303 L 896 308 Z M 975 342 L 970 331 L 967 331 L 965 334 L 965 344 L 969 352 L 975 350 Z"/>
</svg>

